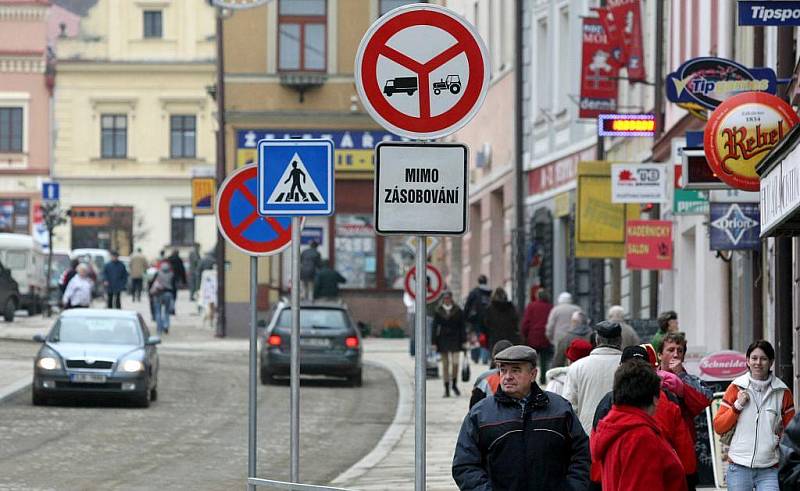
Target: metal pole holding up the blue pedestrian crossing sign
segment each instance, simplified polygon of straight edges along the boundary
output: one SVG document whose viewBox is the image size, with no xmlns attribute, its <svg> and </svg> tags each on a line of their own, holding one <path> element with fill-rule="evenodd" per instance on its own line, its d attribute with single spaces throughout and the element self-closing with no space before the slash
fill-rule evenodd
<svg viewBox="0 0 800 491">
<path fill-rule="evenodd" d="M 290 481 L 300 482 L 300 217 L 292 217 L 292 359 Z"/>
</svg>

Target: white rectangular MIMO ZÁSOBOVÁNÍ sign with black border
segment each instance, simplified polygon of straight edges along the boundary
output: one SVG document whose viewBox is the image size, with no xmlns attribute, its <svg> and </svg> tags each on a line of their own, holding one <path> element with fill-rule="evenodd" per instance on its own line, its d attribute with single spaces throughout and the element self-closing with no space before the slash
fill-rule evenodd
<svg viewBox="0 0 800 491">
<path fill-rule="evenodd" d="M 382 142 L 375 149 L 375 231 L 462 235 L 467 231 L 467 146 Z"/>
</svg>

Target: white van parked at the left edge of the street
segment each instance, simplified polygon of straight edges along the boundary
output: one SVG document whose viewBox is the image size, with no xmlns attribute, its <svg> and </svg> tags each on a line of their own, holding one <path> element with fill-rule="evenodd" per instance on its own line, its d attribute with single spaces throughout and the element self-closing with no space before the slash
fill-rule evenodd
<svg viewBox="0 0 800 491">
<path fill-rule="evenodd" d="M 47 255 L 30 235 L 0 233 L 0 262 L 19 285 L 19 308 L 34 315 L 47 297 Z"/>
</svg>

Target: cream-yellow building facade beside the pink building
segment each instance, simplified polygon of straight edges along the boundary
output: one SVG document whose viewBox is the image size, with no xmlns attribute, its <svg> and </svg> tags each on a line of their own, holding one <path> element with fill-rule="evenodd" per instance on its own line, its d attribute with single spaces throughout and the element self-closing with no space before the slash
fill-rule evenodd
<svg viewBox="0 0 800 491">
<path fill-rule="evenodd" d="M 99 0 L 78 13 L 77 32 L 65 24 L 57 39 L 52 177 L 71 216 L 56 247 L 212 248 L 191 178 L 213 175 L 214 9 Z"/>
</svg>

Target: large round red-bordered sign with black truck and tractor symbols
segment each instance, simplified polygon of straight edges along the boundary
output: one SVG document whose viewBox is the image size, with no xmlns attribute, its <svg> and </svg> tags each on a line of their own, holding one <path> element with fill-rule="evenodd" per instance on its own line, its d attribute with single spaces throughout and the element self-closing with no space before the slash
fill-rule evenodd
<svg viewBox="0 0 800 491">
<path fill-rule="evenodd" d="M 356 88 L 384 128 L 409 138 L 449 135 L 478 112 L 489 57 L 475 28 L 438 5 L 400 7 L 378 19 L 358 47 Z"/>
</svg>

